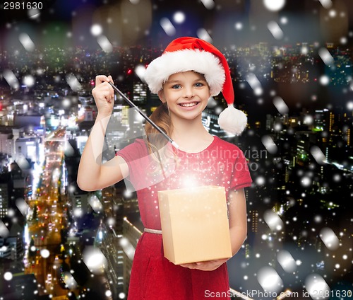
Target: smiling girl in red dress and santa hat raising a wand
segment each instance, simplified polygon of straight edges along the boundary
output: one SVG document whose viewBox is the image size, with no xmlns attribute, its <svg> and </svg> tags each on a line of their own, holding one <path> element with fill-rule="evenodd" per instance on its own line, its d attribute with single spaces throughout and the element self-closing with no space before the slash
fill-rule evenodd
<svg viewBox="0 0 353 300">
<path fill-rule="evenodd" d="M 188 185 L 223 186 L 229 210 L 232 254 L 244 243 L 244 188 L 251 185 L 244 154 L 234 144 L 210 134 L 201 119 L 208 99 L 222 91 L 229 106 L 220 115 L 220 126 L 234 134 L 240 134 L 246 126 L 246 116 L 233 106 L 234 91 L 227 60 L 204 40 L 180 37 L 172 41 L 162 56 L 150 63 L 145 81 L 162 102 L 150 118 L 172 137 L 179 149 L 159 138 L 157 130 L 146 123 L 146 140 L 136 139 L 118 151 L 111 161 L 100 164 L 96 163 L 97 154 L 102 153 L 114 105 L 114 91 L 109 81 L 112 82 L 111 76 L 97 76 L 92 90 L 98 113 L 81 157 L 78 185 L 83 190 L 98 190 L 128 178 L 137 190 L 145 232 L 136 247 L 128 299 L 196 300 L 208 299 L 210 293 L 217 294 L 217 299 L 229 299 L 225 259 L 174 265 L 164 258 L 157 205 L 158 190 Z M 151 162 L 160 158 L 160 153 L 167 156 L 167 159 L 159 159 L 162 179 L 150 179 L 157 173 Z M 169 168 L 170 161 L 174 162 L 172 168 Z"/>
</svg>

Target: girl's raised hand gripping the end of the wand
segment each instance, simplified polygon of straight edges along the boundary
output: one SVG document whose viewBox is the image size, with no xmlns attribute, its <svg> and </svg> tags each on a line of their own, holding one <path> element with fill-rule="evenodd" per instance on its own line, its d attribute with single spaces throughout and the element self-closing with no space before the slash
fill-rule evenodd
<svg viewBox="0 0 353 300">
<path fill-rule="evenodd" d="M 95 77 L 95 88 L 92 89 L 98 113 L 106 116 L 112 114 L 114 107 L 114 90 L 109 81 L 114 84 L 112 76 L 97 75 Z"/>
</svg>

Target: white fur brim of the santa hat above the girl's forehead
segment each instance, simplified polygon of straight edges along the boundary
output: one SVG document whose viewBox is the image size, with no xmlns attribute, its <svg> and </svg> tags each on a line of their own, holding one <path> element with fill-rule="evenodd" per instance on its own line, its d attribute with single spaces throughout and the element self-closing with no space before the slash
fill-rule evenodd
<svg viewBox="0 0 353 300">
<path fill-rule="evenodd" d="M 165 52 L 147 67 L 144 79 L 152 93 L 158 93 L 172 74 L 196 71 L 205 76 L 211 96 L 217 96 L 225 83 L 225 69 L 220 59 L 210 52 L 184 49 Z"/>
</svg>

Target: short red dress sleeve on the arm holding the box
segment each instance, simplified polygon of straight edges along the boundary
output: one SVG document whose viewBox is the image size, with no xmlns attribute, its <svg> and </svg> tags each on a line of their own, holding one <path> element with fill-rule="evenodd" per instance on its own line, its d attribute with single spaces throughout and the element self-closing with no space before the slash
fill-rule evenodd
<svg viewBox="0 0 353 300">
<path fill-rule="evenodd" d="M 230 183 L 231 190 L 239 190 L 241 188 L 249 187 L 253 182 L 244 153 L 239 148 L 237 150 L 238 155 L 234 161 L 234 170 Z"/>
</svg>

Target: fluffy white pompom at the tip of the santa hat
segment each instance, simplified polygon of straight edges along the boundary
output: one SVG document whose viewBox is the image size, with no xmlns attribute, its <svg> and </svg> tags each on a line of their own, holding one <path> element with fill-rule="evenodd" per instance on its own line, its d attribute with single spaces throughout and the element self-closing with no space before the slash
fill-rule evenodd
<svg viewBox="0 0 353 300">
<path fill-rule="evenodd" d="M 241 110 L 234 108 L 232 104 L 229 104 L 218 117 L 218 125 L 220 125 L 223 130 L 237 135 L 243 132 L 247 122 L 248 118 L 246 115 Z"/>
</svg>

